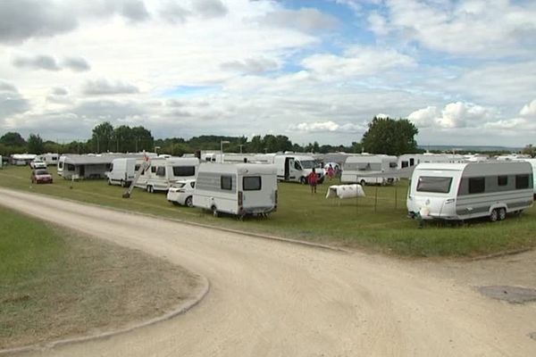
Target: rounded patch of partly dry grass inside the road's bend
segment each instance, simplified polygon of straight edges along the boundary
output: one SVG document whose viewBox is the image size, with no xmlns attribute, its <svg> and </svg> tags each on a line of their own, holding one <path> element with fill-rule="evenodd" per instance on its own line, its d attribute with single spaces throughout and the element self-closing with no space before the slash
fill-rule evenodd
<svg viewBox="0 0 536 357">
<path fill-rule="evenodd" d="M 0 350 L 160 316 L 197 280 L 137 251 L 0 206 Z"/>
</svg>

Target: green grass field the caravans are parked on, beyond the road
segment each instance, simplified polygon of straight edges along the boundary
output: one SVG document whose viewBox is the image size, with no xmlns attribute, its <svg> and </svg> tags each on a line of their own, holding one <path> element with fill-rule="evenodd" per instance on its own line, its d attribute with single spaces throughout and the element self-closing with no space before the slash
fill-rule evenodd
<svg viewBox="0 0 536 357">
<path fill-rule="evenodd" d="M 311 195 L 309 187 L 280 183 L 278 211 L 269 219 L 214 218 L 197 208 L 172 206 L 164 194 L 135 189 L 130 199 L 121 198 L 124 188 L 104 180 L 66 181 L 54 173 L 53 185 L 29 185 L 29 168 L 0 170 L 0 186 L 96 203 L 122 210 L 204 223 L 216 227 L 268 233 L 281 237 L 357 247 L 400 256 L 476 256 L 536 245 L 536 210 L 521 217 L 489 223 L 474 221 L 460 227 L 433 224 L 423 229 L 406 218 L 406 181 L 393 187 L 364 187 L 366 197 L 327 200 L 328 184 Z M 333 184 L 337 182 L 333 181 Z"/>
</svg>

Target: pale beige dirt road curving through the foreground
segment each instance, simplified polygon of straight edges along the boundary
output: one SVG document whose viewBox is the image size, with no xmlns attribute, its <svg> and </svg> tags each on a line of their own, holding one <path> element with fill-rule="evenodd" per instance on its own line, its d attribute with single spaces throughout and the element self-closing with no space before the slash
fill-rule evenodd
<svg viewBox="0 0 536 357">
<path fill-rule="evenodd" d="M 433 264 L 332 252 L 4 189 L 0 197 L 21 212 L 168 259 L 211 284 L 205 300 L 178 318 L 27 355 L 536 355 L 528 336 L 536 331 L 534 303 L 485 298 L 472 281 Z"/>
</svg>

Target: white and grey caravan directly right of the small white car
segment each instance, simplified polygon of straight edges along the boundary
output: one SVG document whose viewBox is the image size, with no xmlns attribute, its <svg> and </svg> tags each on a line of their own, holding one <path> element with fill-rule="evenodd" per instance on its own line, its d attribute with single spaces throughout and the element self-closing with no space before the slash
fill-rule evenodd
<svg viewBox="0 0 536 357">
<path fill-rule="evenodd" d="M 277 170 L 265 163 L 203 162 L 197 172 L 193 204 L 243 217 L 277 209 Z"/>
</svg>

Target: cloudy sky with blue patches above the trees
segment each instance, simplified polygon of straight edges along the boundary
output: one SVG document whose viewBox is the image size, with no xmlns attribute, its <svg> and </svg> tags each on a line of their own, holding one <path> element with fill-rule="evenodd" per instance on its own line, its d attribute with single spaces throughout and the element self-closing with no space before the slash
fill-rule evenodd
<svg viewBox="0 0 536 357">
<path fill-rule="evenodd" d="M 536 143 L 532 0 L 0 0 L 0 135 Z"/>
</svg>

